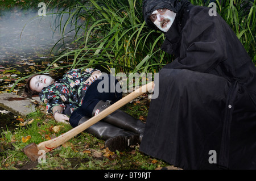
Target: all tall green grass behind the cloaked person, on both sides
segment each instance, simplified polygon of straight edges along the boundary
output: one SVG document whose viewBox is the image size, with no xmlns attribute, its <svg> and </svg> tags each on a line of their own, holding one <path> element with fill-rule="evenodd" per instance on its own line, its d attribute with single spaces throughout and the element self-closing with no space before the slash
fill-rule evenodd
<svg viewBox="0 0 256 181">
<path fill-rule="evenodd" d="M 199 6 L 209 5 L 209 1 L 191 2 Z M 218 14 L 233 28 L 256 62 L 255 2 L 217 0 L 216 5 Z M 142 1 L 89 0 L 88 3 L 77 3 L 69 8 L 60 12 L 69 14 L 70 18 L 65 24 L 75 24 L 76 31 L 82 33 L 77 33 L 73 42 L 79 48 L 65 52 L 59 58 L 72 56 L 72 68 L 102 66 L 108 70 L 115 68 L 115 73 L 154 73 L 172 61 L 172 56 L 160 50 L 163 34 L 146 27 L 142 15 Z M 84 22 L 78 25 L 77 22 L 81 19 Z M 64 30 L 65 26 L 61 31 Z"/>
</svg>

